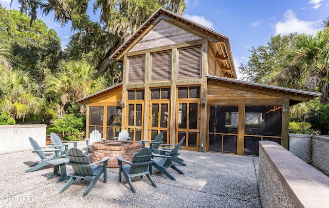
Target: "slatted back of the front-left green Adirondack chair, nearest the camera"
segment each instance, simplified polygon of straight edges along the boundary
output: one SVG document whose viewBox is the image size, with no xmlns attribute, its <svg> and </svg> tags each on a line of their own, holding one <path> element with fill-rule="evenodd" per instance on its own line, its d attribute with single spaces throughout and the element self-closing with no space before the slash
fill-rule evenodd
<svg viewBox="0 0 329 208">
<path fill-rule="evenodd" d="M 85 167 L 89 165 L 87 155 L 83 154 L 81 150 L 71 148 L 68 153 L 69 165 L 72 165 L 72 169 L 76 175 L 79 176 L 93 176 L 91 167 Z"/>
</svg>

